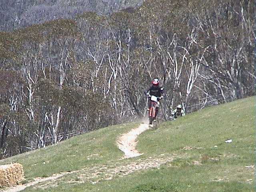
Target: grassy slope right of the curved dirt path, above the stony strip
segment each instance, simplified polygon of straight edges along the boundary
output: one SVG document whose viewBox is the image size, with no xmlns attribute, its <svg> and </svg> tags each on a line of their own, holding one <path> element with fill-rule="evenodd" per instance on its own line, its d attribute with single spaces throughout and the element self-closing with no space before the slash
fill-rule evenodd
<svg viewBox="0 0 256 192">
<path fill-rule="evenodd" d="M 157 130 L 139 136 L 138 150 L 147 155 L 172 153 L 186 146 L 201 149 L 186 152 L 200 156 L 222 157 L 235 154 L 240 158 L 224 158 L 228 163 L 254 164 L 255 107 L 254 97 L 165 122 Z M 232 139 L 232 143 L 225 143 Z M 215 148 L 214 145 L 218 147 Z M 185 151 L 185 150 L 183 150 Z"/>
</svg>

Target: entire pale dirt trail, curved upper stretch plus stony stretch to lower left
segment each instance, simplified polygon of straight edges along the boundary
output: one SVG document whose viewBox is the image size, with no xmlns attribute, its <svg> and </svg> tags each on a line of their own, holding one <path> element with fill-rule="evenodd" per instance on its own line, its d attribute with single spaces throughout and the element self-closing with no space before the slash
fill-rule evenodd
<svg viewBox="0 0 256 192">
<path fill-rule="evenodd" d="M 139 134 L 141 134 L 145 130 L 148 130 L 149 128 L 150 127 L 148 126 L 148 124 L 140 124 L 140 126 L 138 128 L 134 128 L 130 132 L 128 132 L 126 134 L 123 134 L 120 138 L 118 138 L 118 140 L 117 140 L 118 148 L 124 152 L 124 158 L 132 158 L 132 157 L 137 157 L 137 156 L 142 155 L 141 153 L 139 153 L 136 150 L 136 144 L 137 144 L 136 138 L 138 137 Z M 101 178 L 101 179 L 97 179 L 95 181 L 95 183 L 99 182 L 100 180 L 112 179 L 112 177 L 117 172 L 122 173 L 121 175 L 124 176 L 124 175 L 130 174 L 130 173 L 132 173 L 136 170 L 158 167 L 161 164 L 164 164 L 168 161 L 172 161 L 172 158 L 161 157 L 161 158 L 157 158 L 157 159 L 145 159 L 142 162 L 132 162 L 131 164 L 128 164 L 128 165 L 125 165 L 125 166 L 116 166 L 116 168 L 112 168 L 112 170 L 114 170 L 114 171 L 112 171 L 111 173 L 109 173 L 107 171 L 105 173 L 105 176 L 103 176 L 103 178 Z M 90 169 L 83 169 L 83 170 L 78 170 L 78 171 L 73 171 L 73 172 L 65 172 L 65 173 L 60 173 L 60 174 L 54 174 L 51 177 L 36 178 L 34 181 L 29 182 L 27 184 L 13 186 L 13 187 L 9 188 L 8 190 L 4 190 L 4 191 L 0 190 L 0 191 L 3 191 L 3 192 L 19 192 L 19 191 L 24 190 L 27 187 L 34 186 L 34 185 L 36 185 L 38 183 L 41 183 L 41 182 L 46 182 L 46 181 L 54 182 L 58 178 L 61 178 L 64 175 L 72 174 L 72 173 L 75 173 L 75 172 L 81 173 L 81 177 L 82 177 L 83 172 L 86 171 L 86 175 L 88 175 L 89 170 L 92 171 L 93 174 L 91 174 L 89 177 L 87 177 L 87 179 L 97 178 L 99 170 L 101 170 L 99 173 L 102 174 L 102 169 L 108 170 L 108 168 L 106 168 L 106 167 L 94 167 L 94 168 L 90 168 Z"/>
</svg>

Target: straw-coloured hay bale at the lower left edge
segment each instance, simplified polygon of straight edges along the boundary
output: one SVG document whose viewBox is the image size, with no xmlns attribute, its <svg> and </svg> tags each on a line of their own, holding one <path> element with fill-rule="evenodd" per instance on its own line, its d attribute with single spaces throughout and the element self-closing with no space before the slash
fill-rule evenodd
<svg viewBox="0 0 256 192">
<path fill-rule="evenodd" d="M 23 166 L 19 163 L 0 166 L 0 187 L 20 184 L 24 179 Z"/>
</svg>

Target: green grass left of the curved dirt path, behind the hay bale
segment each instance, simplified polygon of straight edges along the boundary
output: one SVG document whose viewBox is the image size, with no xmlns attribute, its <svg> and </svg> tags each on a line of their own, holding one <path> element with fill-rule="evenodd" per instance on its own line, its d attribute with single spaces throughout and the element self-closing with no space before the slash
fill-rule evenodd
<svg viewBox="0 0 256 192">
<path fill-rule="evenodd" d="M 54 146 L 1 160 L 0 164 L 22 164 L 26 178 L 48 177 L 55 173 L 80 170 L 84 166 L 106 164 L 123 155 L 116 147 L 116 138 L 136 126 L 138 124 L 134 123 L 102 128 Z"/>
</svg>

